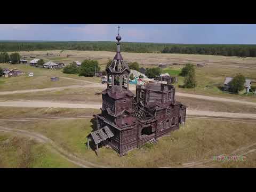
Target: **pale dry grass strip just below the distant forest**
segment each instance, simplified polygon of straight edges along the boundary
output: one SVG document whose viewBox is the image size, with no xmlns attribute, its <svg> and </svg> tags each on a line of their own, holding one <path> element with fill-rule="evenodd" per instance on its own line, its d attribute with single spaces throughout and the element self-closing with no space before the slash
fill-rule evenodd
<svg viewBox="0 0 256 192">
<path fill-rule="evenodd" d="M 122 50 L 121 50 L 122 51 Z M 46 53 L 53 53 L 54 56 L 46 57 Z M 60 53 L 59 50 L 56 51 L 21 51 L 21 55 L 34 54 L 39 55 L 37 58 L 43 58 L 49 60 L 84 60 L 84 59 L 94 59 L 99 60 L 100 63 L 106 62 L 108 59 L 113 59 L 115 52 L 108 51 L 74 51 L 65 50 Z M 58 55 L 59 54 L 59 55 Z M 67 58 L 67 54 L 71 54 Z M 208 64 L 220 64 L 220 65 L 246 65 L 254 66 L 256 64 L 256 58 L 238 58 L 238 57 L 225 57 L 220 55 L 200 55 L 200 54 L 159 54 L 159 53 L 127 53 L 122 52 L 123 58 L 127 62 L 137 61 L 142 65 L 157 65 L 158 63 L 208 63 Z M 28 58 L 29 60 L 29 58 Z M 31 59 L 32 60 L 32 59 Z"/>
</svg>

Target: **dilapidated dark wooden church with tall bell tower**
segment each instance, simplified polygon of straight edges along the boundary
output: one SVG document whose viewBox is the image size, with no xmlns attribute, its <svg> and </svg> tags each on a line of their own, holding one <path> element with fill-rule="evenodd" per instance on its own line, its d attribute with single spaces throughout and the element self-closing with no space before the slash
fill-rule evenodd
<svg viewBox="0 0 256 192">
<path fill-rule="evenodd" d="M 107 69 L 101 114 L 94 116 L 97 127 L 88 136 L 88 145 L 91 139 L 98 149 L 102 142 L 124 155 L 179 129 L 180 123 L 186 121 L 186 107 L 175 101 L 175 89 L 171 84 L 137 85 L 134 95 L 129 90 L 130 69 L 120 53 L 121 36 L 118 34 L 116 39 L 117 53 Z"/>
</svg>

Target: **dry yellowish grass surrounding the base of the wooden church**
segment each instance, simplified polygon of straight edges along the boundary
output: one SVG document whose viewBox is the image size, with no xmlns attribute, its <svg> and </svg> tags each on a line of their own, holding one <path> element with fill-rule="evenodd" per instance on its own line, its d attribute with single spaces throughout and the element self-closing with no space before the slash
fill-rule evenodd
<svg viewBox="0 0 256 192">
<path fill-rule="evenodd" d="M 34 131 L 45 135 L 87 161 L 111 167 L 179 166 L 182 163 L 211 159 L 214 155 L 230 154 L 237 148 L 255 142 L 254 123 L 205 119 L 187 119 L 180 130 L 158 140 L 157 145 L 145 145 L 119 157 L 111 149 L 102 147 L 97 157 L 86 148 L 86 136 L 92 130 L 89 119 L 50 120 L 37 122 L 1 122 L 1 126 Z M 220 163 L 214 167 L 255 167 L 255 154 L 246 162 Z"/>
</svg>

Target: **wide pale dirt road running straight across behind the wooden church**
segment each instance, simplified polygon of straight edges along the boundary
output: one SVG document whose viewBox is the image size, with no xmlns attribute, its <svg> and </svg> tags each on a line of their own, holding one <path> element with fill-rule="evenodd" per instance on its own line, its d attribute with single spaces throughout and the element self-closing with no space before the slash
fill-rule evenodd
<svg viewBox="0 0 256 192">
<path fill-rule="evenodd" d="M 47 101 L 5 101 L 0 102 L 2 107 L 57 107 L 57 108 L 91 108 L 99 109 L 100 103 L 58 103 Z M 213 111 L 201 111 L 201 110 L 187 110 L 187 115 L 191 116 L 207 116 L 207 117 L 228 117 L 239 119 L 256 119 L 256 114 L 244 114 L 244 113 L 227 113 L 227 112 L 213 112 Z"/>
</svg>

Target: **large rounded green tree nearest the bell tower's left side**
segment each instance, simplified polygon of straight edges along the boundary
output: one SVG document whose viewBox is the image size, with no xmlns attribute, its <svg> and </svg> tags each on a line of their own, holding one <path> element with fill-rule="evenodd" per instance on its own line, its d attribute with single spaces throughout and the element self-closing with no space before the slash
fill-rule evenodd
<svg viewBox="0 0 256 192">
<path fill-rule="evenodd" d="M 100 70 L 99 62 L 96 60 L 84 60 L 79 69 L 79 76 L 92 77 L 94 76 L 94 70 L 98 72 Z"/>
</svg>

